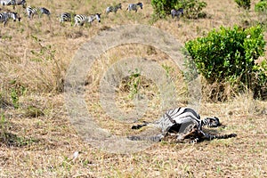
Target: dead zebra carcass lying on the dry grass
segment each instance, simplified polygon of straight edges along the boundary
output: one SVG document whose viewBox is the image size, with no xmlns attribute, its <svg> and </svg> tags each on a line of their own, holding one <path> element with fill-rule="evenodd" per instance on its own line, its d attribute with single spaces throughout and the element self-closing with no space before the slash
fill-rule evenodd
<svg viewBox="0 0 267 178">
<path fill-rule="evenodd" d="M 165 114 L 154 123 L 145 122 L 142 125 L 133 125 L 132 129 L 140 129 L 142 126 L 154 125 L 161 129 L 161 134 L 155 136 L 128 136 L 132 141 L 148 140 L 160 142 L 167 134 L 176 136 L 176 142 L 183 142 L 190 139 L 191 142 L 200 142 L 204 140 L 226 139 L 237 136 L 237 134 L 213 135 L 203 132 L 202 127 L 216 127 L 221 125 L 218 117 L 206 117 L 200 119 L 200 116 L 194 109 L 176 108 L 169 109 Z"/>
</svg>

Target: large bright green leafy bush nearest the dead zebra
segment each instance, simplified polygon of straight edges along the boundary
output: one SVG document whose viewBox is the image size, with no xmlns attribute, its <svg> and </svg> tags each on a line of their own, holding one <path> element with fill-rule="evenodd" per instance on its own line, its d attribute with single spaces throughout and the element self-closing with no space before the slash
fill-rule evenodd
<svg viewBox="0 0 267 178">
<path fill-rule="evenodd" d="M 260 26 L 246 29 L 235 26 L 214 29 L 205 37 L 189 41 L 185 47 L 208 83 L 230 82 L 258 94 L 267 82 L 266 70 L 255 63 L 263 56 L 264 45 Z"/>
</svg>

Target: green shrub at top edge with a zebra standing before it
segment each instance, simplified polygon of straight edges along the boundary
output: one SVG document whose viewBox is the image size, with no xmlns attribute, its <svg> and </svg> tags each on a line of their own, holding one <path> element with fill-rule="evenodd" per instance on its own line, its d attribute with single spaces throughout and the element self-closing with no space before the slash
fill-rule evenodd
<svg viewBox="0 0 267 178">
<path fill-rule="evenodd" d="M 205 2 L 198 0 L 151 0 L 152 7 L 154 9 L 154 15 L 157 18 L 164 18 L 170 14 L 172 9 L 183 8 L 185 17 L 189 19 L 197 19 L 199 17 L 205 17 L 205 13 L 202 12 L 206 7 Z"/>
</svg>

